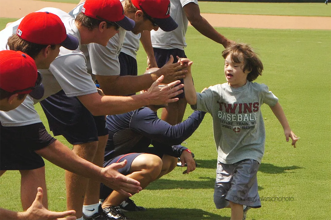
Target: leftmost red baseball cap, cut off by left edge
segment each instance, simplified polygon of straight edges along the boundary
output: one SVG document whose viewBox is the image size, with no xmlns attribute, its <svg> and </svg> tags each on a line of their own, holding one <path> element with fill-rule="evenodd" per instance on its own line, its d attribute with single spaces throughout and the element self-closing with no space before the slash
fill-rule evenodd
<svg viewBox="0 0 331 220">
<path fill-rule="evenodd" d="M 44 95 L 41 82 L 42 75 L 29 55 L 14 50 L 0 51 L 0 88 L 41 99 Z"/>
</svg>

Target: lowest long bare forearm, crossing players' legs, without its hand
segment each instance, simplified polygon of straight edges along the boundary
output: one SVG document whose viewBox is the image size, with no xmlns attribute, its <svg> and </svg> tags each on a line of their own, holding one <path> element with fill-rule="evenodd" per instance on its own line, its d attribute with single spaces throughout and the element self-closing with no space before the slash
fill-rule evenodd
<svg viewBox="0 0 331 220">
<path fill-rule="evenodd" d="M 55 141 L 45 148 L 36 150 L 36 153 L 71 173 L 102 181 L 100 177 L 101 167 L 77 156 L 68 147 L 61 144 L 60 141 Z"/>
</svg>

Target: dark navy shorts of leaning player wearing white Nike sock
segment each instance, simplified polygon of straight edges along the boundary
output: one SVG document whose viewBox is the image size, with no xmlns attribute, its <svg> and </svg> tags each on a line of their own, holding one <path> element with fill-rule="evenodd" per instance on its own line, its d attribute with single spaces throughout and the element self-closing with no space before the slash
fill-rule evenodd
<svg viewBox="0 0 331 220">
<path fill-rule="evenodd" d="M 54 136 L 63 135 L 71 144 L 98 141 L 108 134 L 106 116 L 93 116 L 77 97 L 63 90 L 40 102 Z"/>
</svg>

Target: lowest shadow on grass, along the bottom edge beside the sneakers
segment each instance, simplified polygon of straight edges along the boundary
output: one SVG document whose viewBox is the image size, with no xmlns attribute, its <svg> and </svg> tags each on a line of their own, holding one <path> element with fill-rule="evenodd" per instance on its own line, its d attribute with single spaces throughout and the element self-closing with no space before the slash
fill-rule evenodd
<svg viewBox="0 0 331 220">
<path fill-rule="evenodd" d="M 148 208 L 145 212 L 126 212 L 125 215 L 134 220 L 230 220 L 229 217 L 196 208 Z"/>
</svg>

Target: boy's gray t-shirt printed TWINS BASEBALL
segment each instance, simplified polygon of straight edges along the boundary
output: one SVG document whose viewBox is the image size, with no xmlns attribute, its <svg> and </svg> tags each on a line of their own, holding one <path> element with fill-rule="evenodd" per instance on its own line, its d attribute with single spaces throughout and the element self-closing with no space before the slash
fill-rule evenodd
<svg viewBox="0 0 331 220">
<path fill-rule="evenodd" d="M 233 164 L 254 159 L 261 163 L 265 143 L 261 105 L 272 107 L 277 102 L 268 86 L 248 81 L 240 88 L 228 83 L 211 86 L 197 93 L 197 105 L 191 107 L 212 115 L 219 162 Z"/>
</svg>

